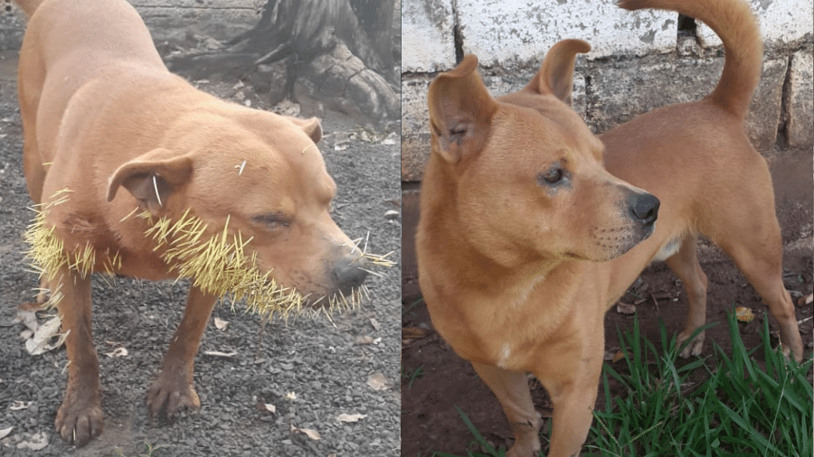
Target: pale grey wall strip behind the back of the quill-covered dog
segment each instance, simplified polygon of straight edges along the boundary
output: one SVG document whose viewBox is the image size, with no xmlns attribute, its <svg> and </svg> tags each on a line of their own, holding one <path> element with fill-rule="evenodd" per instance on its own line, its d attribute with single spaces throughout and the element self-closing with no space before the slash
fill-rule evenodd
<svg viewBox="0 0 814 457">
<path fill-rule="evenodd" d="M 128 0 L 144 18 L 156 42 L 184 41 L 195 33 L 226 40 L 251 29 L 266 0 Z M 0 50 L 23 40 L 24 14 L 16 7 L 0 13 Z"/>
</svg>

